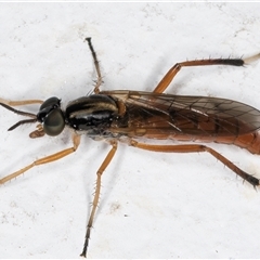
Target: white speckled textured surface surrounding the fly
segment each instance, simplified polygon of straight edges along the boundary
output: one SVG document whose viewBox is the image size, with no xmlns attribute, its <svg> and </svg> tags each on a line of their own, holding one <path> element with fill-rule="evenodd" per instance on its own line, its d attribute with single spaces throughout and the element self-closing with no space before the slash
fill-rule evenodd
<svg viewBox="0 0 260 260">
<path fill-rule="evenodd" d="M 0 95 L 61 98 L 103 89 L 152 91 L 186 58 L 260 51 L 259 3 L 1 3 Z M 184 68 L 168 93 L 234 99 L 260 108 L 260 64 Z M 26 109 L 26 108 L 25 108 Z M 37 112 L 37 106 L 27 108 Z M 34 126 L 0 108 L 0 177 L 70 145 L 69 132 L 30 140 Z M 211 145 L 260 178 L 260 156 Z M 108 152 L 84 136 L 76 154 L 0 187 L 1 258 L 78 258 Z M 260 194 L 207 154 L 157 154 L 119 145 L 104 173 L 90 258 L 259 258 Z M 126 217 L 127 216 L 127 217 Z"/>
</svg>

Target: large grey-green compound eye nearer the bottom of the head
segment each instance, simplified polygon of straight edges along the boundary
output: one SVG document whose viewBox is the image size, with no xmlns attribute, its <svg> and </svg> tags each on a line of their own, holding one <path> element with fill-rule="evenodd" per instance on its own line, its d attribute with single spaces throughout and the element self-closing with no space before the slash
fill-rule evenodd
<svg viewBox="0 0 260 260">
<path fill-rule="evenodd" d="M 46 134 L 55 136 L 58 135 L 65 127 L 65 120 L 61 109 L 53 109 L 48 114 L 43 122 Z"/>
</svg>

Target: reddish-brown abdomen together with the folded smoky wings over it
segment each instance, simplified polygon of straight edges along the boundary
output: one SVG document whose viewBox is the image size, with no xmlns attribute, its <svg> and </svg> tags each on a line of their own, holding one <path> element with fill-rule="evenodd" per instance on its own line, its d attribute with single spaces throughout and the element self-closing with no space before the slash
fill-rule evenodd
<svg viewBox="0 0 260 260">
<path fill-rule="evenodd" d="M 126 106 L 107 129 L 114 136 L 216 142 L 260 153 L 260 110 L 249 105 L 226 99 L 142 91 L 100 94 Z"/>
</svg>

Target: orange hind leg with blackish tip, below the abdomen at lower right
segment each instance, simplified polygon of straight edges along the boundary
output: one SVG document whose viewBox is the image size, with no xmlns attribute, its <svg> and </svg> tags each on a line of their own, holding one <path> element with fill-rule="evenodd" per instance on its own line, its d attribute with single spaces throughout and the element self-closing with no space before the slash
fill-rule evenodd
<svg viewBox="0 0 260 260">
<path fill-rule="evenodd" d="M 247 172 L 239 169 L 233 162 L 231 162 L 227 158 L 216 152 L 214 150 L 200 145 L 200 144 L 181 144 L 181 145 L 153 145 L 153 144 L 144 144 L 139 143 L 136 141 L 131 140 L 129 145 L 147 150 L 154 152 L 164 152 L 164 153 L 198 153 L 198 152 L 208 152 L 218 160 L 220 160 L 223 165 L 227 166 L 232 171 L 234 171 L 237 176 L 243 178 L 245 181 L 249 182 L 253 187 L 260 184 L 259 180 Z"/>
</svg>

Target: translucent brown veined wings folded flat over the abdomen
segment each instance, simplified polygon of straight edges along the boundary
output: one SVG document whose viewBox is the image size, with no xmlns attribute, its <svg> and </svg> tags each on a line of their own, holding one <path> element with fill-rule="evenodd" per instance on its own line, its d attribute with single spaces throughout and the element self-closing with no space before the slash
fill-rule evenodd
<svg viewBox="0 0 260 260">
<path fill-rule="evenodd" d="M 260 128 L 260 110 L 232 100 L 141 91 L 102 93 L 126 105 L 126 131 L 143 129 L 144 135 L 237 136 Z"/>
</svg>

